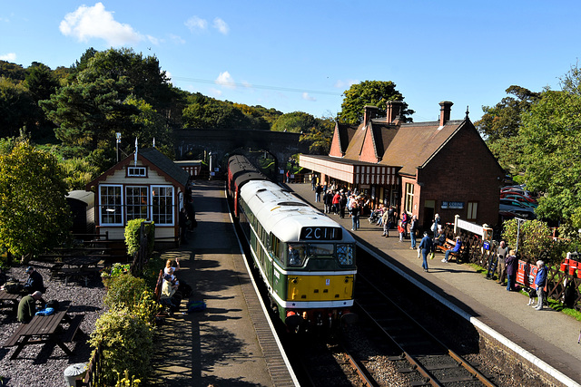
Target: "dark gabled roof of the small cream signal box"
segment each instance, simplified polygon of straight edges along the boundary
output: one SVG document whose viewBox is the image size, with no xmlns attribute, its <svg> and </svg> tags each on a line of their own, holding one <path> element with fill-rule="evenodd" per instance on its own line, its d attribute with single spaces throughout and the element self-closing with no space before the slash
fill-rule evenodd
<svg viewBox="0 0 581 387">
<path fill-rule="evenodd" d="M 123 167 L 130 165 L 134 160 L 134 155 L 135 154 L 133 153 L 113 165 L 112 168 L 105 171 L 101 176 L 89 182 L 85 189 L 91 190 L 92 187 L 96 186 L 104 179 L 107 179 L 107 177 L 112 176 L 117 170 L 121 170 Z M 164 175 L 173 185 L 179 186 L 182 189 L 185 189 L 188 179 L 190 179 L 190 174 L 188 172 L 174 164 L 170 158 L 155 148 L 144 148 L 139 150 L 137 152 L 137 159 L 141 160 L 143 165 L 146 165 Z"/>
</svg>

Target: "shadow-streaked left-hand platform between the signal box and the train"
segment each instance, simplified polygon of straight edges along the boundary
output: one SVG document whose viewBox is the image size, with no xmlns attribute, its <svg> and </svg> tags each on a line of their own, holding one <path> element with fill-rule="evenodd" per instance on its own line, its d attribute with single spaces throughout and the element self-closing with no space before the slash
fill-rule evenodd
<svg viewBox="0 0 581 387">
<path fill-rule="evenodd" d="M 273 386 L 272 374 L 284 372 L 257 337 L 261 324 L 247 306 L 253 289 L 223 195 L 222 181 L 197 183 L 198 227 L 186 245 L 162 254 L 163 260 L 180 258 L 176 276 L 192 285 L 191 300 L 204 300 L 207 309 L 166 320 L 153 385 Z"/>
</svg>

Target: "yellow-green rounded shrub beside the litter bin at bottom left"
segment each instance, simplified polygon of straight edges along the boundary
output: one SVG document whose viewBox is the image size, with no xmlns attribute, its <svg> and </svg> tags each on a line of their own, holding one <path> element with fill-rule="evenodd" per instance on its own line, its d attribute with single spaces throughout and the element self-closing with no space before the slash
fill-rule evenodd
<svg viewBox="0 0 581 387">
<path fill-rule="evenodd" d="M 154 350 L 153 325 L 129 309 L 103 314 L 95 324 L 89 343 L 93 348 L 101 343 L 103 385 L 115 385 L 119 374 L 147 377 Z"/>
</svg>

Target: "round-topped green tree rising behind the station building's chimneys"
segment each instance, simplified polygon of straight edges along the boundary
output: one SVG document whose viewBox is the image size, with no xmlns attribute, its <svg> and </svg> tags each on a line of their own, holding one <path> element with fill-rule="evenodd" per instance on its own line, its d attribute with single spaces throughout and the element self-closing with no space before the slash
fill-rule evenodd
<svg viewBox="0 0 581 387">
<path fill-rule="evenodd" d="M 349 90 L 343 92 L 343 102 L 338 119 L 341 123 L 356 125 L 363 121 L 363 108 L 373 105 L 379 111 L 387 110 L 388 101 L 402 101 L 404 97 L 396 90 L 396 84 L 391 81 L 364 81 L 352 84 Z M 401 118 L 404 122 L 411 122 L 409 118 L 414 111 L 408 109 L 408 103 L 403 102 Z M 385 115 L 384 115 L 385 116 Z"/>
</svg>

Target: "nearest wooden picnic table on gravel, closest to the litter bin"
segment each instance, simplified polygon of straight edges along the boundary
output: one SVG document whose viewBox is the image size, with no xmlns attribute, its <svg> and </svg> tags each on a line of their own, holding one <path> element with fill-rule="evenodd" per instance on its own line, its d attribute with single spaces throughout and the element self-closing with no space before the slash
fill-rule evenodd
<svg viewBox="0 0 581 387">
<path fill-rule="evenodd" d="M 68 314 L 68 308 L 51 315 L 34 315 L 30 323 L 20 324 L 3 346 L 16 347 L 10 360 L 15 360 L 26 345 L 40 343 L 54 343 L 70 356 L 73 352 L 64 343 L 73 341 L 74 335 L 80 331 L 83 317 L 83 314 L 72 317 Z M 64 328 L 64 324 L 68 324 L 68 328 Z"/>
</svg>

